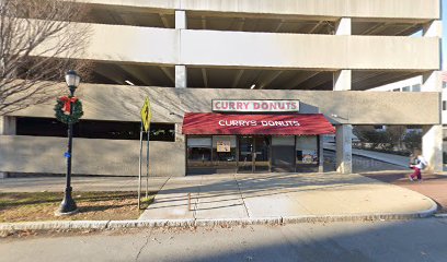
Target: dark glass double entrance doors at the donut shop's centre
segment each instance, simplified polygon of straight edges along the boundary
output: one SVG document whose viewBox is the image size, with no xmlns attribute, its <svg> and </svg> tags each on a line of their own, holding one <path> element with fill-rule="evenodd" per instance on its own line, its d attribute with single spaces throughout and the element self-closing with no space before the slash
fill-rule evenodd
<svg viewBox="0 0 447 262">
<path fill-rule="evenodd" d="M 239 136 L 238 171 L 270 171 L 270 136 Z"/>
</svg>

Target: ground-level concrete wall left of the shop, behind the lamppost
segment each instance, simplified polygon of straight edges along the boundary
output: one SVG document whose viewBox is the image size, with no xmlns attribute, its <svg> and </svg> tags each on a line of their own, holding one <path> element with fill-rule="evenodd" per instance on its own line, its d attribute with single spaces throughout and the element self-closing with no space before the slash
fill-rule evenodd
<svg viewBox="0 0 447 262">
<path fill-rule="evenodd" d="M 0 171 L 65 174 L 66 148 L 64 138 L 0 135 Z M 153 141 L 149 150 L 150 176 L 184 176 L 184 143 Z M 138 176 L 138 157 L 139 141 L 74 139 L 72 172 Z"/>
</svg>

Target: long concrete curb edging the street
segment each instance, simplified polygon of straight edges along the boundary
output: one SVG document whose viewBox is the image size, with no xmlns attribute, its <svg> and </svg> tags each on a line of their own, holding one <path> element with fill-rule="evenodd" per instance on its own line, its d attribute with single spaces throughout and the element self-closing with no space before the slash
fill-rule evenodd
<svg viewBox="0 0 447 262">
<path fill-rule="evenodd" d="M 323 222 L 359 222 L 359 221 L 397 221 L 433 216 L 437 210 L 436 203 L 432 209 L 416 213 L 383 213 L 355 215 L 308 215 L 279 216 L 260 218 L 222 218 L 222 219 L 148 219 L 148 221 L 51 221 L 0 223 L 0 231 L 14 230 L 50 230 L 50 229 L 112 229 L 139 227 L 206 227 L 206 226 L 241 226 L 241 225 L 280 225 L 298 223 Z M 447 214 L 435 215 L 447 217 Z"/>
</svg>

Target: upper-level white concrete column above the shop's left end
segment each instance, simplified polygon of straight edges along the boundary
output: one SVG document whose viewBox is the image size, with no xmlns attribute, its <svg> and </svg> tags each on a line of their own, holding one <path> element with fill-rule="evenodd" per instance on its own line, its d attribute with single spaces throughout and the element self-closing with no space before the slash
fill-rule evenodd
<svg viewBox="0 0 447 262">
<path fill-rule="evenodd" d="M 177 56 L 181 59 L 181 46 L 182 46 L 182 29 L 187 28 L 186 11 L 175 10 L 175 29 L 177 31 Z M 187 71 L 186 66 L 175 64 L 175 87 L 186 88 L 187 87 Z"/>
</svg>

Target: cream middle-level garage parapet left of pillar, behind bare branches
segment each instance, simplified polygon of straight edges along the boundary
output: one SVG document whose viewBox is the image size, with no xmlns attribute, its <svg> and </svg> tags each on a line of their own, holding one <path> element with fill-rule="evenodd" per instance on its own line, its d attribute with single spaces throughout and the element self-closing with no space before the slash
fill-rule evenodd
<svg viewBox="0 0 447 262">
<path fill-rule="evenodd" d="M 82 28 L 89 34 L 82 51 L 58 53 L 66 58 L 98 61 L 144 62 L 149 64 L 175 64 L 179 62 L 179 31 L 126 25 L 72 23 L 66 31 Z M 34 50 L 32 55 L 53 56 L 57 38 L 49 38 Z M 79 47 L 74 47 L 79 48 Z M 49 49 L 49 50 L 48 50 Z M 45 50 L 45 51 L 44 51 Z"/>
</svg>

